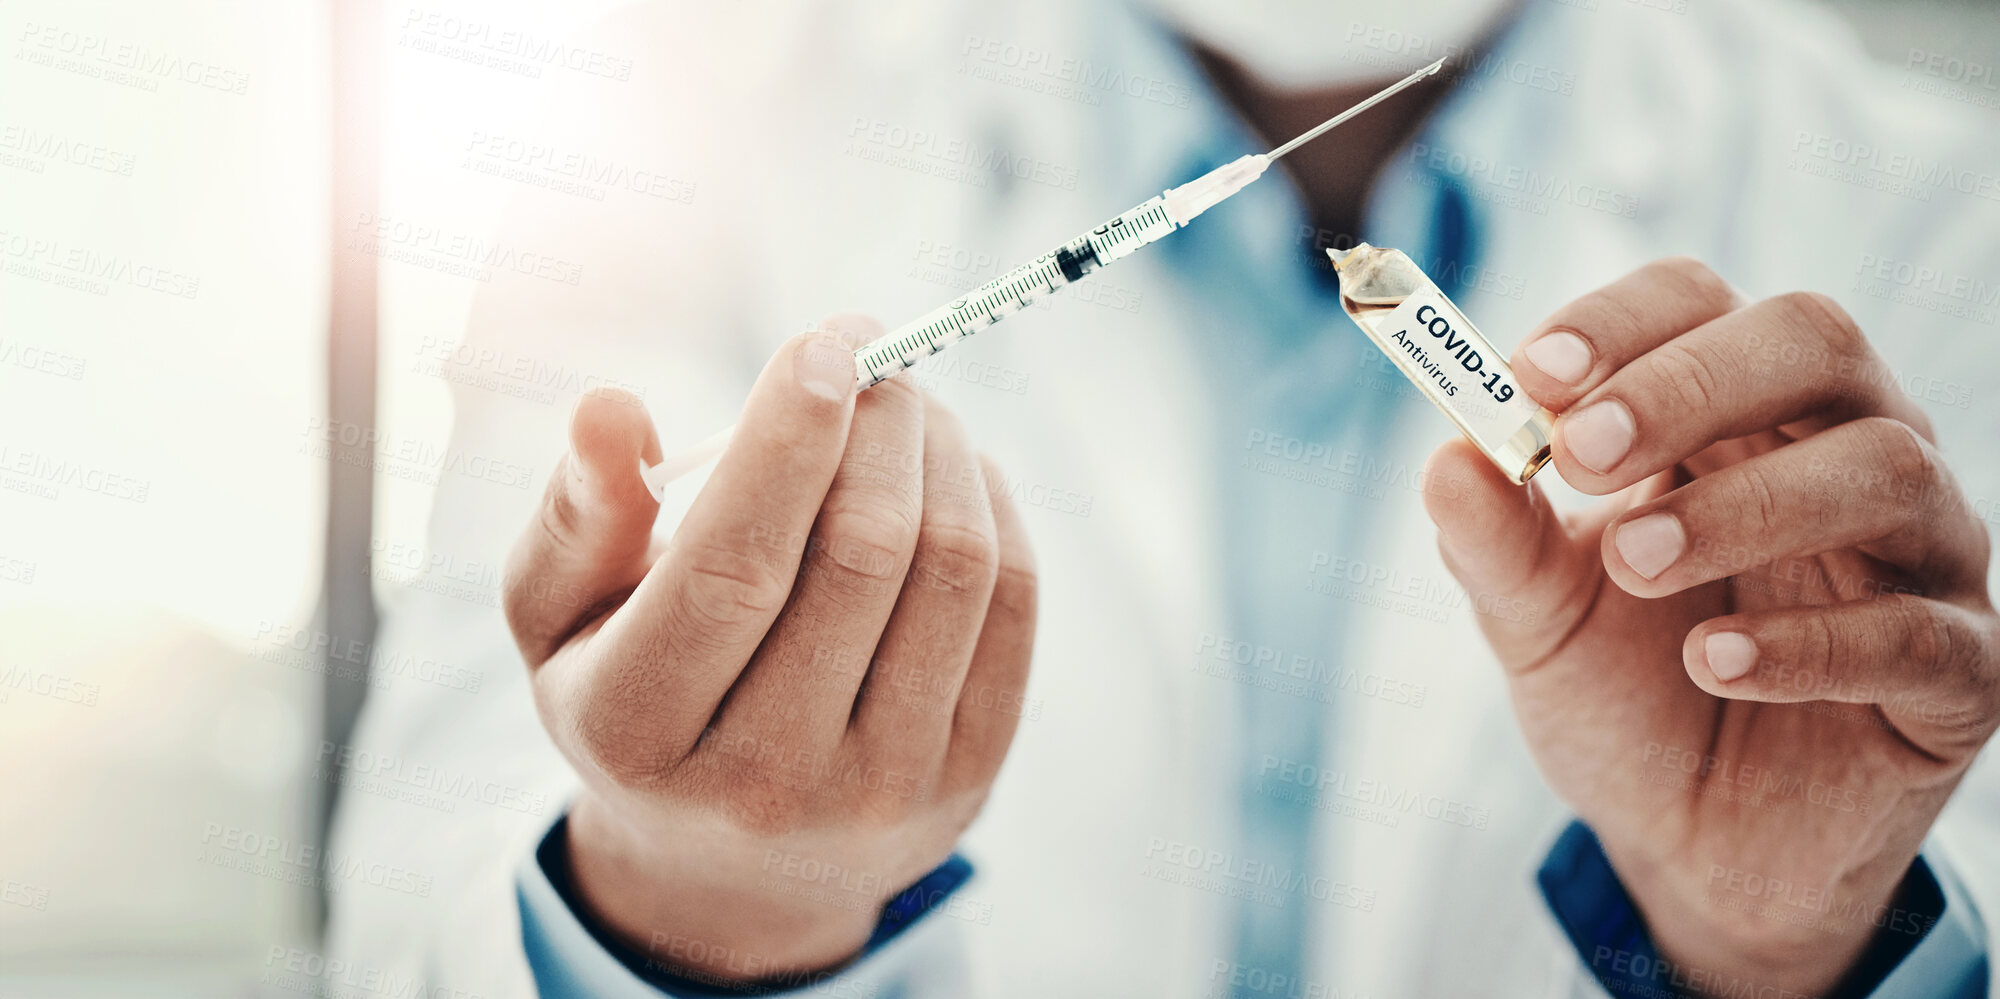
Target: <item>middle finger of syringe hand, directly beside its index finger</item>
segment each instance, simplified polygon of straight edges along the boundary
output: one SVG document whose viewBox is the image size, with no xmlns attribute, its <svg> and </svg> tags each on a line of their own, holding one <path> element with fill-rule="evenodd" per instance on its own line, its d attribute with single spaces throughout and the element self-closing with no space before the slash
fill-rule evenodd
<svg viewBox="0 0 2000 999">
<path fill-rule="evenodd" d="M 848 450 L 806 541 L 792 597 L 716 725 L 782 745 L 846 733 L 904 587 L 924 513 L 924 400 L 904 378 L 854 402 Z"/>
</svg>

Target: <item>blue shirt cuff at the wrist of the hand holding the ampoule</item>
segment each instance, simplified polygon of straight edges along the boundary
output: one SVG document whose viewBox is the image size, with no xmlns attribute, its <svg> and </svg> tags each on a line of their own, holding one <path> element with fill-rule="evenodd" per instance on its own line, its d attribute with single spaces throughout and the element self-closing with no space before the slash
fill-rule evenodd
<svg viewBox="0 0 2000 999">
<path fill-rule="evenodd" d="M 1660 957 L 1596 833 L 1572 821 L 1536 879 L 1584 969 L 1610 995 L 1724 991 L 1702 969 Z M 1828 999 L 1984 999 L 1986 929 L 1956 873 L 1918 855 L 1860 963 Z"/>
</svg>

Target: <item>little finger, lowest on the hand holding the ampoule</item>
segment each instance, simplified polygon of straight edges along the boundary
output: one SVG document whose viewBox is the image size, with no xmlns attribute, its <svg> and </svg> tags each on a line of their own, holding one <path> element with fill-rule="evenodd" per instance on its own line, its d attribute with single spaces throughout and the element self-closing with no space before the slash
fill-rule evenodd
<svg viewBox="0 0 2000 999">
<path fill-rule="evenodd" d="M 1988 615 L 1884 595 L 1736 613 L 1688 631 L 1688 677 L 1718 697 L 1876 705 L 1918 747 L 1948 755 L 1994 729 L 2000 679 Z"/>
</svg>

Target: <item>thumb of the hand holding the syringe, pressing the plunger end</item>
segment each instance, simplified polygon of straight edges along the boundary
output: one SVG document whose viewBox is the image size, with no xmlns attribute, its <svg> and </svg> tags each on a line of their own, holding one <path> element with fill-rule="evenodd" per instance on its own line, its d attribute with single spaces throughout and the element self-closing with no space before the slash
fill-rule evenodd
<svg viewBox="0 0 2000 999">
<path fill-rule="evenodd" d="M 658 460 L 660 440 L 636 396 L 600 388 L 576 400 L 570 452 L 548 476 L 502 583 L 506 621 L 530 667 L 548 661 L 646 575 L 660 503 L 634 470 Z"/>
</svg>

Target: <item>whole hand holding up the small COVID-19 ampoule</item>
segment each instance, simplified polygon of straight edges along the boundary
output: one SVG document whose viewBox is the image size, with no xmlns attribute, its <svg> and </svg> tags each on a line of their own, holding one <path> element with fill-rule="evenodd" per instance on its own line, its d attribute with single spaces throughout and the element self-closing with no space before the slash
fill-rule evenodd
<svg viewBox="0 0 2000 999">
<path fill-rule="evenodd" d="M 1480 625 L 1528 745 L 1666 959 L 1822 995 L 1914 931 L 1896 889 L 2000 717 L 1986 529 L 1822 296 L 1746 306 L 1664 260 L 1514 366 L 1562 478 L 1610 500 L 1560 517 L 1452 442 L 1426 505 L 1504 597 Z"/>
</svg>

